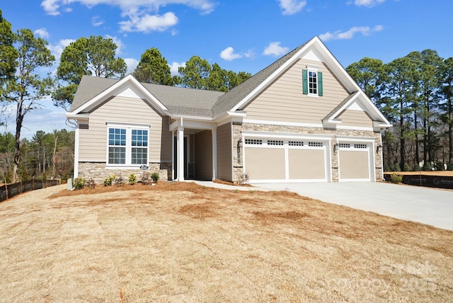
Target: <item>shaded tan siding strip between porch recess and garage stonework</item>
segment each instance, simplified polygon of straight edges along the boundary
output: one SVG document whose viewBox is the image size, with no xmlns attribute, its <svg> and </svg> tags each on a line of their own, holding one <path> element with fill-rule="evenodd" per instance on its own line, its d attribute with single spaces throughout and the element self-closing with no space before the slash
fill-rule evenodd
<svg viewBox="0 0 453 303">
<path fill-rule="evenodd" d="M 232 180 L 231 123 L 217 127 L 217 178 Z"/>
</svg>

